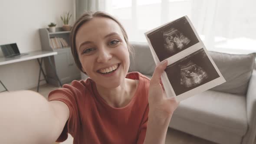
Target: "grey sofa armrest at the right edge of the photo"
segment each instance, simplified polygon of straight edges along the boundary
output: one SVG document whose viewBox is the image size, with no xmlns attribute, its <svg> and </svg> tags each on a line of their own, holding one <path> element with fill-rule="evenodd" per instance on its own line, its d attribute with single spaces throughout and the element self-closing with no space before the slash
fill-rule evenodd
<svg viewBox="0 0 256 144">
<path fill-rule="evenodd" d="M 253 70 L 246 94 L 246 113 L 249 127 L 243 144 L 253 144 L 256 135 L 256 70 Z"/>
</svg>

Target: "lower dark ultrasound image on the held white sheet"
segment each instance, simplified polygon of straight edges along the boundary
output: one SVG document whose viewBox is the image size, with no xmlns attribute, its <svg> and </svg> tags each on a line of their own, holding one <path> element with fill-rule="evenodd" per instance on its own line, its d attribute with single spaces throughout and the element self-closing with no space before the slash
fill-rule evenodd
<svg viewBox="0 0 256 144">
<path fill-rule="evenodd" d="M 203 48 L 168 65 L 165 72 L 177 96 L 220 77 Z"/>
</svg>

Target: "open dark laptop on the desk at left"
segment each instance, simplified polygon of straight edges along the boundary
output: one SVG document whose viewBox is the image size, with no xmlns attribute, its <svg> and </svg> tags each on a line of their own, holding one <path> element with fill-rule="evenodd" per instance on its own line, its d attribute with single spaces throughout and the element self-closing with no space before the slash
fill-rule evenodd
<svg viewBox="0 0 256 144">
<path fill-rule="evenodd" d="M 6 58 L 28 55 L 27 53 L 20 53 L 16 43 L 0 45 L 0 48 L 3 53 L 3 56 Z"/>
</svg>

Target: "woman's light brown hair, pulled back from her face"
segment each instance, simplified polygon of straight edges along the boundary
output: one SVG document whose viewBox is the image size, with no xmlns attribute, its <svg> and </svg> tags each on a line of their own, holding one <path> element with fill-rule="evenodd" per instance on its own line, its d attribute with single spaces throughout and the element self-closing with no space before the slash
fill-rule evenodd
<svg viewBox="0 0 256 144">
<path fill-rule="evenodd" d="M 76 36 L 76 33 L 79 30 L 79 28 L 84 23 L 87 23 L 90 20 L 92 20 L 94 17 L 105 17 L 105 18 L 109 18 L 111 20 L 114 20 L 121 28 L 121 31 L 122 31 L 123 36 L 125 38 L 125 42 L 127 44 L 129 53 L 131 54 L 132 57 L 134 57 L 134 50 L 133 50 L 132 46 L 128 43 L 127 33 L 125 32 L 124 27 L 121 25 L 121 23 L 117 19 L 115 19 L 113 16 L 109 15 L 108 13 L 105 13 L 105 12 L 102 12 L 102 11 L 97 11 L 97 12 L 86 11 L 78 20 L 76 20 L 76 22 L 74 23 L 74 26 L 72 27 L 71 32 L 70 32 L 70 46 L 71 46 L 72 55 L 73 55 L 74 60 L 75 60 L 75 64 L 80 69 L 80 71 L 85 73 L 85 74 L 86 74 L 86 72 L 84 72 L 83 69 L 82 69 L 82 64 L 79 60 L 79 56 L 78 56 L 77 49 L 76 49 L 76 46 L 75 46 L 75 36 Z"/>
</svg>

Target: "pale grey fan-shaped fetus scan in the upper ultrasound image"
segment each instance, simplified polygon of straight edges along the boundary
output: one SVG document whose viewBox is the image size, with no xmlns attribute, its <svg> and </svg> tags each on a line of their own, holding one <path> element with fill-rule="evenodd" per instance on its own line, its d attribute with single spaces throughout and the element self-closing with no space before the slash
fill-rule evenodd
<svg viewBox="0 0 256 144">
<path fill-rule="evenodd" d="M 164 49 L 171 53 L 180 52 L 190 43 L 190 39 L 175 28 L 163 32 Z"/>
</svg>

